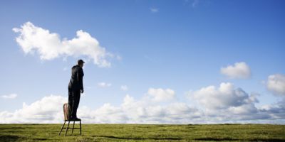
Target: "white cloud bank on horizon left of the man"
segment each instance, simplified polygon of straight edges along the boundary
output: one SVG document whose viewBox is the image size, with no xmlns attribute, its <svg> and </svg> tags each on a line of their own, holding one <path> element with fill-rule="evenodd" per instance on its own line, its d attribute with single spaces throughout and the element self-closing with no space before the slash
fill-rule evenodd
<svg viewBox="0 0 285 142">
<path fill-rule="evenodd" d="M 63 121 L 63 104 L 67 98 L 50 95 L 14 112 L 1 111 L 0 123 L 58 123 Z"/>
</svg>

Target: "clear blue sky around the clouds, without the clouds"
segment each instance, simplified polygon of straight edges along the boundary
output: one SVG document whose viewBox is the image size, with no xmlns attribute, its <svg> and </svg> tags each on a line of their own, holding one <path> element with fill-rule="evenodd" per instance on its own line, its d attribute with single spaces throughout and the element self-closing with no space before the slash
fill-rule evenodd
<svg viewBox="0 0 285 142">
<path fill-rule="evenodd" d="M 170 103 L 192 106 L 200 97 L 189 96 L 229 82 L 249 96 L 259 94 L 254 106 L 260 111 L 285 97 L 284 6 L 281 0 L 1 1 L 0 112 L 13 114 L 23 110 L 23 102 L 33 104 L 51 94 L 67 97 L 70 69 L 79 58 L 88 60 L 80 107 L 119 107 L 126 94 L 135 100 L 160 95 L 152 95 L 150 88 L 172 89 L 175 100 Z M 20 33 L 12 29 L 26 22 L 57 33 L 60 40 L 76 38 L 80 30 L 90 34 L 113 55 L 105 58 L 110 67 L 99 67 L 86 55 L 43 60 L 40 53 L 24 53 L 16 41 Z M 221 72 L 239 62 L 249 67 L 246 77 Z M 269 85 L 270 75 L 281 87 Z M 128 90 L 120 89 L 122 85 Z M 11 94 L 16 97 L 4 97 Z M 203 107 L 199 102 L 194 107 Z M 285 112 L 285 107 L 278 108 Z"/>
</svg>

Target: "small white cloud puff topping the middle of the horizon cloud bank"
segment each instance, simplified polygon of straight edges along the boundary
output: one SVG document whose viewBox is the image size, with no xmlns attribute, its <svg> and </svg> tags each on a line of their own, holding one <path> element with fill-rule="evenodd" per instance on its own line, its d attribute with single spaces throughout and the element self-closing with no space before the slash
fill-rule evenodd
<svg viewBox="0 0 285 142">
<path fill-rule="evenodd" d="M 175 99 L 175 92 L 172 89 L 148 89 L 147 96 L 155 102 L 170 101 Z"/>
</svg>

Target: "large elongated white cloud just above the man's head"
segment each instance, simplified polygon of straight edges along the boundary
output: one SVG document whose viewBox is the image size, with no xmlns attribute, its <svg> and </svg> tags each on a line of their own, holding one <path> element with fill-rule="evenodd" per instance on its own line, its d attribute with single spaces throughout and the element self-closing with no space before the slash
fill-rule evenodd
<svg viewBox="0 0 285 142">
<path fill-rule="evenodd" d="M 107 58 L 113 55 L 101 47 L 98 40 L 85 31 L 77 31 L 76 38 L 61 40 L 58 33 L 34 26 L 31 22 L 24 23 L 21 28 L 13 28 L 19 33 L 16 42 L 24 50 L 24 53 L 40 55 L 41 60 L 53 60 L 54 58 L 72 56 L 78 58 L 83 56 L 93 60 L 99 67 L 110 67 L 111 63 Z"/>
</svg>

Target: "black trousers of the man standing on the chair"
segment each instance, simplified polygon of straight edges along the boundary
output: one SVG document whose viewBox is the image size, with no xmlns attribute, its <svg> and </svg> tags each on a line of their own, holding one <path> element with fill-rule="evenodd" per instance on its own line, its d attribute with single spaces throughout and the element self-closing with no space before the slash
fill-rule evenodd
<svg viewBox="0 0 285 142">
<path fill-rule="evenodd" d="M 68 89 L 68 104 L 71 107 L 71 117 L 77 117 L 77 109 L 81 97 L 81 90 Z"/>
</svg>

